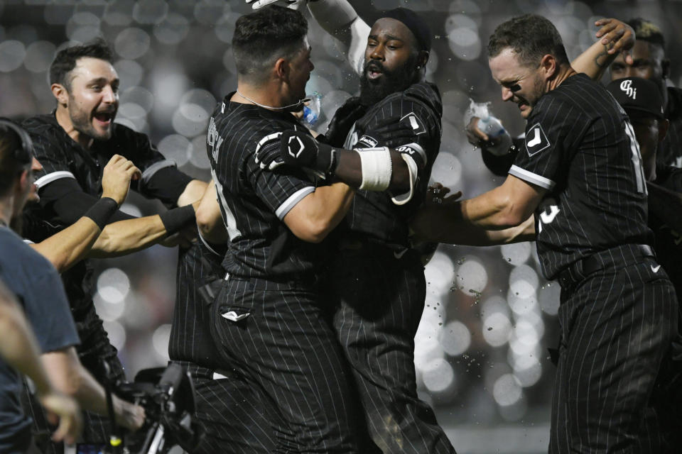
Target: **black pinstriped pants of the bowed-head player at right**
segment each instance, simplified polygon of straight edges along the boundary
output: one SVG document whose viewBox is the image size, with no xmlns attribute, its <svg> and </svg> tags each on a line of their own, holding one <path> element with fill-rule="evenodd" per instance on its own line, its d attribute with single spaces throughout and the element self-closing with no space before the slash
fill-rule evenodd
<svg viewBox="0 0 682 454">
<path fill-rule="evenodd" d="M 549 452 L 664 453 L 654 403 L 678 336 L 675 290 L 634 245 L 593 257 L 601 270 L 585 276 L 579 262 L 560 279 Z"/>
</svg>

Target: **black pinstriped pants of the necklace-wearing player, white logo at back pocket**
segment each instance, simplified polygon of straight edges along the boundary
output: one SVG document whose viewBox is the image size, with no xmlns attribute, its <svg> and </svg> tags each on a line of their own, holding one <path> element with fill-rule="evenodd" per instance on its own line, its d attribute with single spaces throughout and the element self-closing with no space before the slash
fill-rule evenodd
<svg viewBox="0 0 682 454">
<path fill-rule="evenodd" d="M 359 452 L 350 372 L 321 305 L 310 284 L 234 277 L 213 304 L 218 348 L 266 412 L 271 453 Z"/>
</svg>

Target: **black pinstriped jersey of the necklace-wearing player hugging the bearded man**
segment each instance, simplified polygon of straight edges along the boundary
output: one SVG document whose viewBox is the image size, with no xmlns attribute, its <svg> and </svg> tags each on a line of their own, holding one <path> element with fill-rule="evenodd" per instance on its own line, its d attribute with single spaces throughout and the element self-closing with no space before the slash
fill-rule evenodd
<svg viewBox="0 0 682 454">
<path fill-rule="evenodd" d="M 283 218 L 315 184 L 302 170 L 263 170 L 254 160 L 261 140 L 287 129 L 308 131 L 288 112 L 251 104 L 217 104 L 210 119 L 207 153 L 222 218 L 229 235 L 222 266 L 234 277 L 298 279 L 318 269 L 323 245 L 291 233 Z"/>
</svg>

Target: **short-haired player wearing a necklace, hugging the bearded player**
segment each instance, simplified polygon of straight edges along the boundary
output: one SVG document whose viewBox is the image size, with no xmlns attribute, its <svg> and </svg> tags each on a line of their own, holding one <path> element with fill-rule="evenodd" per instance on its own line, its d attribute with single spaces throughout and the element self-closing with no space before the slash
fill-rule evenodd
<svg viewBox="0 0 682 454">
<path fill-rule="evenodd" d="M 317 243 L 354 190 L 269 171 L 262 160 L 283 133 L 305 130 L 288 110 L 302 105 L 313 70 L 307 32 L 300 12 L 276 6 L 235 25 L 237 91 L 217 105 L 207 135 L 229 238 L 228 277 L 213 303 L 216 343 L 230 380 L 244 380 L 244 399 L 274 429 L 275 449 L 254 443 L 251 452 L 356 453 L 350 377 L 315 282 L 328 254 Z"/>
</svg>

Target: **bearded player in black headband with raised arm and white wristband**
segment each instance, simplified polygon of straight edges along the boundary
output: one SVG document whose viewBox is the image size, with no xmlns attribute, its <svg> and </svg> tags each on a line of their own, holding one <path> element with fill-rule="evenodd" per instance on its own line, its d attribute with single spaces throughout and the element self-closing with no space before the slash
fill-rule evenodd
<svg viewBox="0 0 682 454">
<path fill-rule="evenodd" d="M 414 370 L 426 282 L 408 222 L 426 194 L 442 116 L 438 89 L 423 81 L 431 32 L 409 9 L 385 11 L 370 28 L 347 1 L 308 6 L 349 46 L 347 55 L 361 74 L 360 96 L 338 109 L 315 157 L 304 151 L 281 159 L 359 189 L 336 233 L 325 287 L 335 301 L 332 321 L 367 430 L 384 453 L 453 453 L 433 410 L 417 397 Z M 394 126 L 411 128 L 409 137 L 381 140 L 372 131 L 391 116 Z M 398 156 L 386 148 L 393 146 Z"/>
</svg>

